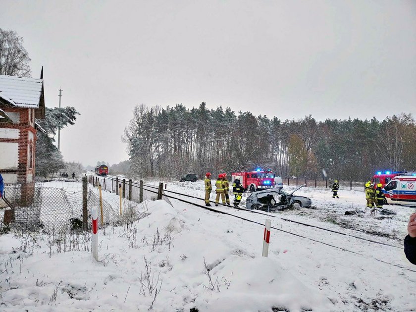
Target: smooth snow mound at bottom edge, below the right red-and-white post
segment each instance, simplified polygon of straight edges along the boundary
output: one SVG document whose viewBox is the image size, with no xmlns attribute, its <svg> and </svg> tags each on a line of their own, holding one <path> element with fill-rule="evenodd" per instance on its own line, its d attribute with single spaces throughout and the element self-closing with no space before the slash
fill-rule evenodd
<svg viewBox="0 0 416 312">
<path fill-rule="evenodd" d="M 201 301 L 200 311 L 269 311 L 271 307 L 283 311 L 329 309 L 328 299 L 322 293 L 306 287 L 273 259 L 231 258 L 212 271 L 214 276 L 228 276 L 232 282 L 227 291 L 215 294 L 209 303 L 197 300 L 197 303 Z"/>
</svg>

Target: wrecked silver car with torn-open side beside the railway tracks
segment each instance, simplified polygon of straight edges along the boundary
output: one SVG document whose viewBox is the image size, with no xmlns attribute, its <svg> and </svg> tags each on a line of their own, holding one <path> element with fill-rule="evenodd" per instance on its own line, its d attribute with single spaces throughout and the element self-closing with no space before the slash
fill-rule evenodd
<svg viewBox="0 0 416 312">
<path fill-rule="evenodd" d="M 312 205 L 310 198 L 293 195 L 293 193 L 304 186 L 305 184 L 301 185 L 291 193 L 280 189 L 267 189 L 253 192 L 247 198 L 246 208 L 265 211 L 283 210 L 287 208 L 299 209 L 301 207 L 309 208 Z"/>
</svg>

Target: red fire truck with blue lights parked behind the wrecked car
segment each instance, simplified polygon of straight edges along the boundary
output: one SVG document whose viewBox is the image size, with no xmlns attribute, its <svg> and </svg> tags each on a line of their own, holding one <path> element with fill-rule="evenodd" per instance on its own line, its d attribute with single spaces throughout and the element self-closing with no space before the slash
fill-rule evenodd
<svg viewBox="0 0 416 312">
<path fill-rule="evenodd" d="M 256 171 L 233 172 L 233 181 L 238 178 L 246 191 L 255 192 L 269 188 L 283 188 L 283 181 L 276 177 L 271 170 L 264 171 L 258 168 Z"/>
</svg>

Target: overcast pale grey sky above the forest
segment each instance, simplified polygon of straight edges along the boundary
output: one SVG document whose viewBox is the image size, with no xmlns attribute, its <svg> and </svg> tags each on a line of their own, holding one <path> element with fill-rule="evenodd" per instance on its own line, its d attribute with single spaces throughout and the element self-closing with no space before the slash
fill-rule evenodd
<svg viewBox="0 0 416 312">
<path fill-rule="evenodd" d="M 292 119 L 416 115 L 416 1 L 0 0 L 44 66 L 46 105 L 75 106 L 66 160 L 128 158 L 136 104 Z"/>
</svg>

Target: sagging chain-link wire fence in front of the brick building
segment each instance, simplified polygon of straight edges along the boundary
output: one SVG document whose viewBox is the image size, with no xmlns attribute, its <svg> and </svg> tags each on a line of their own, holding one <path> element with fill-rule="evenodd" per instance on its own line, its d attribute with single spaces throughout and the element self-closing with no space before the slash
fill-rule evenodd
<svg viewBox="0 0 416 312">
<path fill-rule="evenodd" d="M 73 230 L 82 228 L 83 191 L 82 184 L 77 188 L 45 187 L 44 183 L 6 184 L 4 199 L 0 200 L 0 220 L 18 230 L 58 230 L 67 227 Z M 91 226 L 90 211 L 98 208 L 99 224 L 116 225 L 123 221 L 134 221 L 148 215 L 141 211 L 134 202 L 119 201 L 115 194 L 103 197 L 97 189 L 90 187 L 87 191 L 88 224 Z M 113 199 L 115 198 L 115 200 Z"/>
</svg>

